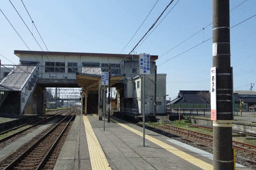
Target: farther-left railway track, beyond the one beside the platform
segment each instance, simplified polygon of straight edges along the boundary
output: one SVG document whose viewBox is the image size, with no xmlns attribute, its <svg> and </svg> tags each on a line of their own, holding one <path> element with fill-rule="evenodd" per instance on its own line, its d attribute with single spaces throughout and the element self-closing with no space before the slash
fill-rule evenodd
<svg viewBox="0 0 256 170">
<path fill-rule="evenodd" d="M 49 121 L 50 119 L 54 118 L 55 116 L 61 115 L 61 114 L 66 113 L 68 111 L 70 111 L 70 109 L 68 109 L 66 111 L 60 111 L 60 112 L 57 112 L 55 114 L 45 116 L 45 117 L 43 117 L 41 119 L 38 119 L 38 120 L 36 120 L 34 122 L 29 122 L 29 123 L 27 123 L 25 125 L 14 127 L 12 129 L 9 129 L 9 130 L 1 132 L 0 135 L 8 134 L 9 132 L 12 132 L 13 130 L 18 130 L 18 129 L 22 128 L 22 127 L 25 127 L 27 125 L 31 125 L 32 124 L 29 127 L 26 127 L 24 129 L 16 132 L 16 133 L 13 133 L 13 134 L 11 134 L 9 136 L 4 137 L 3 139 L 0 139 L 0 149 L 2 149 L 3 147 L 5 147 L 6 145 L 8 145 L 8 144 L 10 144 L 12 142 L 15 142 L 17 139 L 20 139 L 21 137 L 25 136 L 27 133 L 31 132 L 32 130 L 35 130 L 38 127 L 38 125 L 41 125 L 42 123 Z"/>
</svg>

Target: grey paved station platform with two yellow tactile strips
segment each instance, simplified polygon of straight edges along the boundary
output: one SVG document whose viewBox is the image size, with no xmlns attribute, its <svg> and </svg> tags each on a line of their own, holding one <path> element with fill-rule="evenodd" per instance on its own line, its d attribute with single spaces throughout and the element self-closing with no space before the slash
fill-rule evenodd
<svg viewBox="0 0 256 170">
<path fill-rule="evenodd" d="M 212 154 L 112 117 L 77 115 L 54 170 L 213 170 Z M 249 170 L 236 164 L 236 170 Z"/>
</svg>

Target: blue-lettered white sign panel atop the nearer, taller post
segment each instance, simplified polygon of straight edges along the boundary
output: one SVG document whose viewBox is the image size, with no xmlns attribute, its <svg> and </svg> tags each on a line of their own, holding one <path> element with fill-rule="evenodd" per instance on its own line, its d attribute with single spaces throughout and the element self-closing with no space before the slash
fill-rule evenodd
<svg viewBox="0 0 256 170">
<path fill-rule="evenodd" d="M 150 55 L 140 54 L 140 74 L 150 74 Z"/>
</svg>

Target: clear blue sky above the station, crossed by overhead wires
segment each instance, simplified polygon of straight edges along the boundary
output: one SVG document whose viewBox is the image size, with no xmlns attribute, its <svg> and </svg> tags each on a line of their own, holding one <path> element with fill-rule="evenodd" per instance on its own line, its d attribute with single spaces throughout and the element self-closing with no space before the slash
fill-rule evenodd
<svg viewBox="0 0 256 170">
<path fill-rule="evenodd" d="M 49 51 L 117 53 L 134 32 L 157 0 L 23 0 L 40 31 Z M 230 9 L 244 0 L 230 0 Z M 170 0 L 159 0 L 145 23 L 122 52 L 127 54 L 154 23 Z M 177 2 L 174 0 L 170 8 Z M 20 0 L 12 0 L 33 34 L 43 47 L 40 37 Z M 254 15 L 256 1 L 247 0 L 230 12 L 230 26 Z M 40 51 L 8 0 L 0 8 L 20 33 L 31 50 Z M 165 14 L 166 14 L 165 13 Z M 163 17 L 165 16 L 163 14 Z M 162 18 L 163 18 L 162 17 Z M 161 20 L 161 19 L 160 19 Z M 161 56 L 195 32 L 212 22 L 212 0 L 180 0 L 152 34 L 136 49 L 136 53 Z M 18 63 L 14 50 L 28 50 L 8 21 L 0 13 L 0 54 Z M 235 90 L 249 90 L 255 80 L 256 17 L 230 30 L 231 65 Z M 166 94 L 174 99 L 179 90 L 209 90 L 212 67 L 212 40 L 160 65 L 212 37 L 212 25 L 157 60 L 158 73 L 166 73 Z M 45 50 L 45 48 L 44 48 Z M 3 64 L 12 64 L 3 59 Z M 240 88 L 241 87 L 241 88 Z M 254 87 L 256 88 L 256 87 Z"/>
</svg>

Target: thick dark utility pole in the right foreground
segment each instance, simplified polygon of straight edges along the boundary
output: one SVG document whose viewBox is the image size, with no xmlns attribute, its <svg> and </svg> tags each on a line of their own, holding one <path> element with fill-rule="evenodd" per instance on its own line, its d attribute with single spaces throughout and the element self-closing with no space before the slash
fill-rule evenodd
<svg viewBox="0 0 256 170">
<path fill-rule="evenodd" d="M 233 170 L 229 0 L 212 0 L 212 65 L 216 67 L 217 120 L 213 121 L 213 168 Z"/>
</svg>

